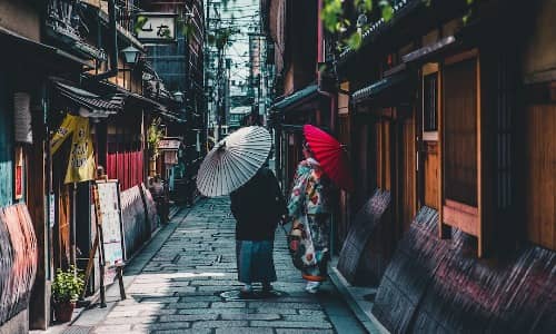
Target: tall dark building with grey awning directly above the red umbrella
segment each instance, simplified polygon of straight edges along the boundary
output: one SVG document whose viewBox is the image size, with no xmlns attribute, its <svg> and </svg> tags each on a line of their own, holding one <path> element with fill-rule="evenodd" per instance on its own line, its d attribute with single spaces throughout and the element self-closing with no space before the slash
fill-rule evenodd
<svg viewBox="0 0 556 334">
<path fill-rule="evenodd" d="M 325 62 L 325 33 L 319 12 L 321 1 L 264 1 L 264 29 L 274 41 L 276 96 L 270 110 L 275 126 L 277 176 L 291 184 L 301 158 L 302 125 L 335 128 L 334 85 L 319 72 Z"/>
</svg>

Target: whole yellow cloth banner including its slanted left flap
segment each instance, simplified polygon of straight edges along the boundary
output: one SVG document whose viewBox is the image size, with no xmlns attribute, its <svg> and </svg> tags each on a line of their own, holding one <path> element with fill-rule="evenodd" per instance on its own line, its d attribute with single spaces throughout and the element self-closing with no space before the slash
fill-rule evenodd
<svg viewBox="0 0 556 334">
<path fill-rule="evenodd" d="M 73 137 L 64 183 L 92 180 L 95 179 L 96 167 L 88 118 L 67 115 L 52 140 L 50 140 L 50 149 L 54 154 L 71 134 L 73 134 Z"/>
</svg>

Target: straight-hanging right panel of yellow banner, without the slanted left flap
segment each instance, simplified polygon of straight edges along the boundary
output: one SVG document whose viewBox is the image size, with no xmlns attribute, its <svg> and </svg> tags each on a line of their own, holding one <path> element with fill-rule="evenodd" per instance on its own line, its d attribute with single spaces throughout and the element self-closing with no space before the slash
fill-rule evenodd
<svg viewBox="0 0 556 334">
<path fill-rule="evenodd" d="M 89 128 L 89 119 L 75 116 L 73 138 L 66 173 L 66 184 L 95 179 L 95 155 Z"/>
</svg>

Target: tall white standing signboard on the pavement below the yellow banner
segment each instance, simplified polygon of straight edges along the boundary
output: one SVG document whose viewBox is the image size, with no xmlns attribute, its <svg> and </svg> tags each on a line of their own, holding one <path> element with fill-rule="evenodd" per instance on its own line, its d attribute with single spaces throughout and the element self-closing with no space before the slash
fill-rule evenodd
<svg viewBox="0 0 556 334">
<path fill-rule="evenodd" d="M 97 181 L 106 267 L 123 263 L 120 187 L 118 180 Z"/>
</svg>

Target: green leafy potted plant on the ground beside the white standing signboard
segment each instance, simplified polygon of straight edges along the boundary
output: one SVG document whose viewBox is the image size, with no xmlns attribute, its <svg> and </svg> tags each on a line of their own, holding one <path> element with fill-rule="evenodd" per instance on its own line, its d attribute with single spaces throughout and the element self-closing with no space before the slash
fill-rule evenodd
<svg viewBox="0 0 556 334">
<path fill-rule="evenodd" d="M 54 282 L 52 283 L 52 299 L 57 321 L 66 323 L 71 320 L 76 302 L 83 287 L 82 274 L 75 266 L 70 266 L 66 272 L 60 268 L 56 271 Z"/>
</svg>

